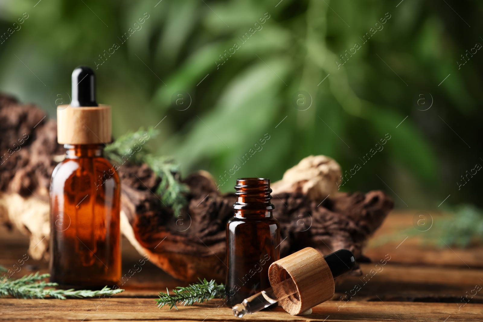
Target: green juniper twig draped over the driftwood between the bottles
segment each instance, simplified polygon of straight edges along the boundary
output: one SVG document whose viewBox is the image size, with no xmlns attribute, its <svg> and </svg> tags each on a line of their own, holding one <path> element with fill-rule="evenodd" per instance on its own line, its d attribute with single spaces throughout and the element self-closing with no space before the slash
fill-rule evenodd
<svg viewBox="0 0 483 322">
<path fill-rule="evenodd" d="M 104 152 L 109 159 L 117 160 L 122 164 L 126 161 L 133 164 L 146 163 L 156 176 L 161 178 L 156 193 L 161 196 L 163 204 L 171 207 L 174 215 L 178 216 L 187 204 L 185 194 L 189 192 L 189 188 L 179 181 L 179 165 L 172 158 L 153 156 L 143 146 L 147 140 L 157 134 L 153 128 L 147 131 L 141 128 L 136 132 L 128 132 L 109 144 Z"/>
</svg>

